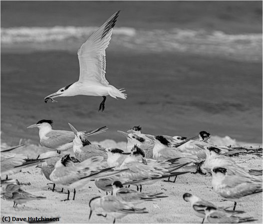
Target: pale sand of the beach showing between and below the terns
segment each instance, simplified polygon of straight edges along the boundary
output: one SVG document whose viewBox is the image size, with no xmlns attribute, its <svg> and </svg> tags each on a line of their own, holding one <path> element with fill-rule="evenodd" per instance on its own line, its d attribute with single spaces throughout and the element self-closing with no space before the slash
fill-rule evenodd
<svg viewBox="0 0 263 224">
<path fill-rule="evenodd" d="M 253 169 L 262 169 L 262 158 L 257 156 L 239 156 L 235 157 L 237 162 Z M 29 171 L 29 173 L 23 173 Z M 3 177 L 2 177 L 3 178 Z M 20 183 L 30 183 L 22 188 L 34 195 L 44 196 L 46 200 L 31 201 L 25 205 L 18 205 L 12 208 L 13 202 L 1 199 L 1 223 L 2 216 L 10 217 L 60 217 L 59 223 L 112 223 L 113 218 L 109 215 L 107 218 L 96 216 L 100 213 L 97 210 L 92 214 L 91 220 L 88 221 L 89 200 L 95 196 L 103 196 L 104 192 L 99 192 L 93 182 L 85 187 L 78 189 L 75 201 L 60 201 L 66 199 L 66 194 L 60 194 L 48 190 L 49 183 L 43 175 L 40 175 L 40 169 L 28 168 L 22 170 L 9 178 L 18 179 Z M 205 200 L 211 201 L 217 206 L 232 206 L 233 202 L 220 202 L 220 197 L 211 187 L 212 177 L 201 176 L 199 174 L 187 174 L 179 176 L 176 183 L 167 183 L 159 181 L 152 186 L 143 187 L 143 192 L 155 193 L 164 192 L 169 196 L 158 202 L 145 202 L 140 204 L 139 208 L 147 208 L 148 214 L 128 215 L 124 217 L 121 223 L 201 223 L 202 219 L 193 214 L 189 204 L 183 200 L 183 194 L 189 192 Z M 49 185 L 52 187 L 53 185 Z M 61 190 L 60 188 L 56 188 Z M 136 189 L 136 187 L 132 187 Z M 64 191 L 65 192 L 65 191 Z M 70 194 L 70 199 L 73 194 Z M 258 219 L 254 223 L 262 223 L 262 194 L 256 195 L 251 200 L 239 203 L 237 210 L 244 210 L 249 216 Z M 104 213 L 105 214 L 105 213 Z"/>
</svg>

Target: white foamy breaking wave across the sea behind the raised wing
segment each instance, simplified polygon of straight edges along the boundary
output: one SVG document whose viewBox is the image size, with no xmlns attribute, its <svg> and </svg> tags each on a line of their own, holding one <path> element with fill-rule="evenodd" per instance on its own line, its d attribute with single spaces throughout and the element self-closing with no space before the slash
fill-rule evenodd
<svg viewBox="0 0 263 224">
<path fill-rule="evenodd" d="M 76 50 L 98 27 L 54 26 L 1 28 L 1 45 L 32 44 L 35 50 Z M 115 27 L 111 45 L 136 52 L 189 52 L 236 60 L 262 60 L 262 33 L 226 34 L 222 31 L 143 30 Z M 43 45 L 45 47 L 43 47 Z M 27 47 L 27 45 L 26 45 Z M 115 48 L 114 48 L 115 49 Z"/>
</svg>

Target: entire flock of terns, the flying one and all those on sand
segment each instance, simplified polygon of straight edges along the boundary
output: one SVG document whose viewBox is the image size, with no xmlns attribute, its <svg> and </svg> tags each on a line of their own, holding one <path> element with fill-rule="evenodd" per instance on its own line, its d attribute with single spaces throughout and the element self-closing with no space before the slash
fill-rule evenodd
<svg viewBox="0 0 263 224">
<path fill-rule="evenodd" d="M 106 96 L 126 99 L 124 90 L 118 90 L 109 85 L 105 78 L 105 49 L 109 45 L 112 29 L 116 23 L 119 11 L 113 14 L 78 50 L 80 64 L 79 80 L 59 89 L 45 98 L 55 102 L 57 97 L 76 95 L 101 96 L 103 101 L 99 111 L 105 109 Z M 28 128 L 39 128 L 41 145 L 50 151 L 40 154 L 36 159 L 16 154 L 15 148 L 2 150 L 1 155 L 1 198 L 13 201 L 13 207 L 30 200 L 42 200 L 44 197 L 32 195 L 24 191 L 18 180 L 8 179 L 8 175 L 18 173 L 27 167 L 40 167 L 41 173 L 55 186 L 61 187 L 61 192 L 67 190 L 69 200 L 70 190 L 73 190 L 75 200 L 76 189 L 94 181 L 94 185 L 106 192 L 90 200 L 92 212 L 102 208 L 107 214 L 121 219 L 128 214 L 148 213 L 146 208 L 137 205 L 145 201 L 158 201 L 166 198 L 162 192 L 147 194 L 142 187 L 152 185 L 163 179 L 175 182 L 177 176 L 187 173 L 196 175 L 212 175 L 214 191 L 224 200 L 233 201 L 234 208 L 217 207 L 211 202 L 197 196 L 185 193 L 183 198 L 190 202 L 198 217 L 208 223 L 242 223 L 255 221 L 252 217 L 239 217 L 244 211 L 236 211 L 237 202 L 262 193 L 262 170 L 250 170 L 241 167 L 232 158 L 240 152 L 237 147 L 214 146 L 209 143 L 210 133 L 200 131 L 191 138 L 182 136 L 154 136 L 141 133 L 140 126 L 134 126 L 127 132 L 119 131 L 127 138 L 126 150 L 101 145 L 89 141 L 90 136 L 106 131 L 106 126 L 90 131 L 78 131 L 69 123 L 72 131 L 53 130 L 52 120 L 39 120 Z M 73 148 L 74 157 L 62 155 L 61 151 Z M 193 169 L 196 171 L 193 172 Z M 170 179 L 174 178 L 173 181 Z M 131 190 L 136 186 L 137 191 Z M 124 187 L 125 186 L 125 187 Z M 111 195 L 108 195 L 111 192 Z M 203 223 L 202 222 L 202 223 Z"/>
</svg>

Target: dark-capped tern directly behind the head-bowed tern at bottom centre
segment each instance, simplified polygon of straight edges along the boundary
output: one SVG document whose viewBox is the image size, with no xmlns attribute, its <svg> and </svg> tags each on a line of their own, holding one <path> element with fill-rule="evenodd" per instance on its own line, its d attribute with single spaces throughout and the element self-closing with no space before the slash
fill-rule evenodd
<svg viewBox="0 0 263 224">
<path fill-rule="evenodd" d="M 157 193 L 157 194 L 145 194 L 145 193 L 139 193 L 137 191 L 133 191 L 128 188 L 124 188 L 122 183 L 120 181 L 115 181 L 111 184 L 113 188 L 113 195 L 117 196 L 118 198 L 121 198 L 121 200 L 125 202 L 131 202 L 131 203 L 142 203 L 144 201 L 155 201 L 160 198 L 167 198 L 168 196 L 160 196 L 163 193 Z"/>
</svg>

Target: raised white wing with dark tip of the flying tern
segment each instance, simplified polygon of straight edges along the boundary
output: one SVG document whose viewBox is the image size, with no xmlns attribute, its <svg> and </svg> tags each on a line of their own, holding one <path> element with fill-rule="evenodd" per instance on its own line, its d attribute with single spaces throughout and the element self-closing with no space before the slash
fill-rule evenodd
<svg viewBox="0 0 263 224">
<path fill-rule="evenodd" d="M 119 11 L 113 14 L 78 50 L 79 82 L 98 83 L 107 86 L 105 78 L 106 53 Z"/>
</svg>

